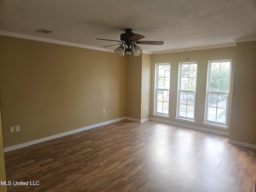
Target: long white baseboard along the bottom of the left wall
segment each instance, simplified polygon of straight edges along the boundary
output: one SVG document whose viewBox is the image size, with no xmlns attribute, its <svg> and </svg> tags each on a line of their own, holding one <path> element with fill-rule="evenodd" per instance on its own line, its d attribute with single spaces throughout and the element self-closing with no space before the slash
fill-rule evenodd
<svg viewBox="0 0 256 192">
<path fill-rule="evenodd" d="M 19 148 L 22 148 L 22 147 L 26 147 L 26 146 L 34 145 L 34 144 L 37 144 L 37 143 L 41 143 L 41 142 L 44 142 L 44 141 L 56 139 L 56 138 L 59 138 L 59 137 L 63 137 L 63 136 L 70 135 L 70 134 L 73 134 L 73 133 L 77 133 L 77 132 L 81 132 L 81 131 L 84 131 L 84 130 L 92 129 L 92 128 L 95 128 L 95 127 L 98 127 L 98 126 L 114 123 L 114 122 L 124 120 L 124 119 L 126 119 L 126 117 L 122 117 L 122 118 L 118 118 L 118 119 L 114 119 L 114 120 L 110 120 L 110 121 L 106 121 L 106 122 L 102 122 L 102 123 L 82 127 L 82 128 L 79 128 L 79 129 L 71 130 L 71 131 L 68 131 L 68 132 L 64 132 L 64 133 L 44 137 L 44 138 L 33 140 L 33 141 L 30 141 L 30 142 L 26 142 L 26 143 L 14 145 L 14 146 L 6 147 L 6 148 L 4 148 L 4 152 L 8 152 L 8 151 L 12 151 L 12 150 L 19 149 Z"/>
</svg>

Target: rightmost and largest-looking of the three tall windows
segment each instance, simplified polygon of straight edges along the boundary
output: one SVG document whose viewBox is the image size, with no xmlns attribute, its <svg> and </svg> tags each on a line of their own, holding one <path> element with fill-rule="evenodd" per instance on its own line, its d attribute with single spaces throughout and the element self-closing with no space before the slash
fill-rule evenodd
<svg viewBox="0 0 256 192">
<path fill-rule="evenodd" d="M 227 125 L 232 60 L 208 61 L 205 122 Z"/>
</svg>

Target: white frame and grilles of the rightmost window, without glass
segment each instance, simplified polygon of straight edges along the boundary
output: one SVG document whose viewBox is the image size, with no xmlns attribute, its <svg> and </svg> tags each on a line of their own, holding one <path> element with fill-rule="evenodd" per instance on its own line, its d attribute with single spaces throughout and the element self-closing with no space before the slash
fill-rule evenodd
<svg viewBox="0 0 256 192">
<path fill-rule="evenodd" d="M 211 74 L 211 65 L 212 63 L 218 63 L 220 62 L 220 67 L 222 62 L 230 62 L 230 69 L 229 69 L 229 76 L 228 76 L 228 91 L 223 92 L 223 91 L 210 91 L 210 74 Z M 232 59 L 226 59 L 226 60 L 210 60 L 208 61 L 208 73 L 207 73 L 207 86 L 206 86 L 206 102 L 205 102 L 205 112 L 204 112 L 204 125 L 208 126 L 213 126 L 213 127 L 218 127 L 218 128 L 224 128 L 228 129 L 227 127 L 227 122 L 228 122 L 228 102 L 229 102 L 229 94 L 230 94 L 230 80 L 231 80 L 231 69 L 232 69 Z M 218 78 L 222 78 L 218 76 Z M 218 81 L 218 89 L 219 89 L 220 81 Z M 226 116 L 225 116 L 225 122 L 217 122 L 216 121 L 211 121 L 208 120 L 208 107 L 209 107 L 209 94 L 226 94 L 227 99 L 226 99 Z M 216 118 L 217 118 L 217 109 L 218 109 L 218 101 L 216 104 Z"/>
</svg>

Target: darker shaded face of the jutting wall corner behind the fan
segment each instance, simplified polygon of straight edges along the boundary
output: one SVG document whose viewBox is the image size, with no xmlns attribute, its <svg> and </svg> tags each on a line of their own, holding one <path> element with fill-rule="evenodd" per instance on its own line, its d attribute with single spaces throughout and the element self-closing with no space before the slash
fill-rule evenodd
<svg viewBox="0 0 256 192">
<path fill-rule="evenodd" d="M 126 63 L 126 116 L 140 120 L 142 55 L 125 56 Z M 129 58 L 128 58 L 129 57 Z"/>
</svg>

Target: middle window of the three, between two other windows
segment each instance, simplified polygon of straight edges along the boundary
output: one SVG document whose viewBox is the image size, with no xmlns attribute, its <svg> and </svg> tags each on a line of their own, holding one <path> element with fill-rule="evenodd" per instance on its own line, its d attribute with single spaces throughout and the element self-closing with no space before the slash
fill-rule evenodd
<svg viewBox="0 0 256 192">
<path fill-rule="evenodd" d="M 177 118 L 194 120 L 197 62 L 179 63 Z"/>
</svg>

